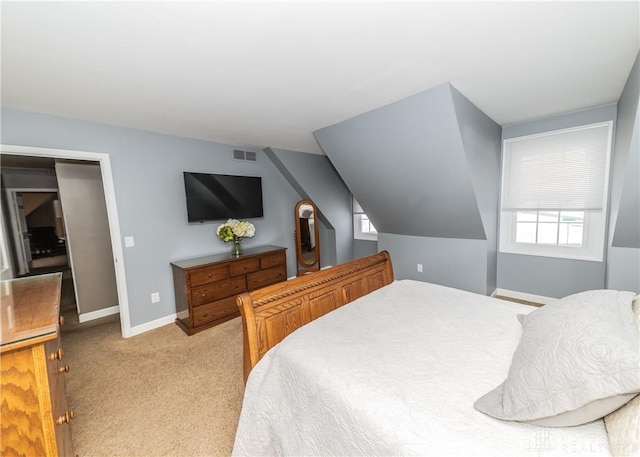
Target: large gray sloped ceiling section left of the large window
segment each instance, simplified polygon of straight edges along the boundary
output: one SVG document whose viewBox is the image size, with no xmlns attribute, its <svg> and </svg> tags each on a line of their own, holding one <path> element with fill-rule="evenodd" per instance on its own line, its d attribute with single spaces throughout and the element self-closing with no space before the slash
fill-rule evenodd
<svg viewBox="0 0 640 457">
<path fill-rule="evenodd" d="M 452 90 L 444 84 L 314 132 L 379 232 L 487 239 Z M 485 119 L 497 196 L 500 128 Z"/>
</svg>

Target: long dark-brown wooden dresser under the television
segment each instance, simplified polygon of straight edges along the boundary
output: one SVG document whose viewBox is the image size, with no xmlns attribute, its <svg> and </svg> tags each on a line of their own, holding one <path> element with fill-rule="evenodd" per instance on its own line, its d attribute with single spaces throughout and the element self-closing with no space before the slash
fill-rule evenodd
<svg viewBox="0 0 640 457">
<path fill-rule="evenodd" d="M 171 262 L 178 318 L 188 335 L 240 315 L 236 295 L 287 279 L 286 248 L 260 246 Z"/>
</svg>

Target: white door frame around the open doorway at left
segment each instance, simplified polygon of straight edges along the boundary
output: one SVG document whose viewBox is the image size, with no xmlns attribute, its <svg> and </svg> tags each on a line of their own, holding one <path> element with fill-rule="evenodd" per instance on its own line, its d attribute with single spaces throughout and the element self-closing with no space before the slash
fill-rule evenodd
<svg viewBox="0 0 640 457">
<path fill-rule="evenodd" d="M 105 203 L 107 204 L 109 233 L 111 234 L 113 268 L 116 274 L 116 288 L 118 289 L 120 327 L 122 330 L 123 338 L 129 338 L 133 336 L 131 332 L 131 319 L 129 315 L 129 299 L 127 294 L 127 281 L 123 261 L 124 255 L 122 237 L 120 235 L 120 222 L 118 220 L 116 193 L 115 187 L 113 185 L 113 173 L 111 171 L 111 160 L 109 154 L 104 152 L 74 151 L 69 149 L 52 149 L 0 144 L 0 154 L 2 153 L 22 156 L 48 157 L 53 159 L 86 160 L 98 162 L 100 164 L 100 172 L 102 174 L 102 188 L 104 190 Z"/>
</svg>

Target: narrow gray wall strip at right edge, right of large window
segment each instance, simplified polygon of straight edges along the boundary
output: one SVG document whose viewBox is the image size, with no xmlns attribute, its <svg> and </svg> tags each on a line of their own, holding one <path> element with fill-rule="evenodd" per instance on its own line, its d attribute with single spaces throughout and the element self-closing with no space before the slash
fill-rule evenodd
<svg viewBox="0 0 640 457">
<path fill-rule="evenodd" d="M 640 55 L 618 102 L 607 287 L 640 292 Z"/>
</svg>

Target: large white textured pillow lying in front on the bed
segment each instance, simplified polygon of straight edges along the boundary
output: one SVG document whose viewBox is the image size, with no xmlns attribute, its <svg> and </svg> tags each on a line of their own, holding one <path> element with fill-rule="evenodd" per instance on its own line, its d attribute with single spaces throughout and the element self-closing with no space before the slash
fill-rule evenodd
<svg viewBox="0 0 640 457">
<path fill-rule="evenodd" d="M 640 392 L 633 292 L 570 295 L 520 318 L 523 334 L 505 382 L 474 407 L 503 420 L 579 425 Z"/>
</svg>

